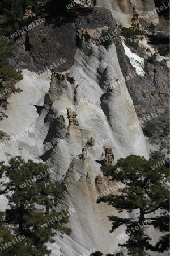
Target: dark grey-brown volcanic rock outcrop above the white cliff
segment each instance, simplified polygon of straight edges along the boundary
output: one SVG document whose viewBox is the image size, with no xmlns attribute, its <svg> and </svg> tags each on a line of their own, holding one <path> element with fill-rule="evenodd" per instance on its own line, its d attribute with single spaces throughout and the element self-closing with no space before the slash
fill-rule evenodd
<svg viewBox="0 0 170 256">
<path fill-rule="evenodd" d="M 104 8 L 75 10 L 76 18 L 74 19 L 68 13 L 65 15 L 67 17 L 61 17 L 58 22 L 45 17 L 46 22 L 23 33 L 22 37 L 16 41 L 19 54 L 10 60 L 10 64 L 30 71 L 43 71 L 43 69 L 45 71 L 45 68 L 49 68 L 50 65 L 53 65 L 54 71 L 66 71 L 74 63 L 78 47 L 77 30 L 104 26 L 116 27 L 111 12 Z M 67 61 L 61 63 L 59 59 Z"/>
</svg>

